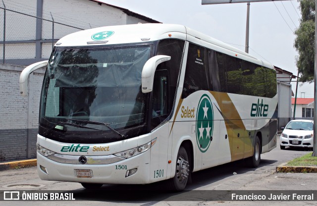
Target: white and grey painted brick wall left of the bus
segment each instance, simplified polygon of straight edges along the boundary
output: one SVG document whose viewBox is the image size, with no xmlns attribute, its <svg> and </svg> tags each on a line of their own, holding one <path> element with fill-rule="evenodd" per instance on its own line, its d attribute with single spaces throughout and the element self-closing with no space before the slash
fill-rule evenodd
<svg viewBox="0 0 317 206">
<path fill-rule="evenodd" d="M 0 64 L 0 162 L 36 157 L 43 70 L 29 78 L 29 96 L 21 97 L 21 66 Z"/>
</svg>

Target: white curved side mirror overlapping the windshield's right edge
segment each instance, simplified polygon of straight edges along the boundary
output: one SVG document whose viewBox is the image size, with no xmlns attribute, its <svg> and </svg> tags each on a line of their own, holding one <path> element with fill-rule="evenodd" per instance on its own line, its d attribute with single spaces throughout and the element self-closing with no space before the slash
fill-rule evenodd
<svg viewBox="0 0 317 206">
<path fill-rule="evenodd" d="M 166 55 L 157 55 L 150 58 L 143 66 L 142 69 L 142 92 L 148 93 L 153 90 L 154 74 L 157 66 L 164 62 L 168 61 L 170 56 Z"/>
</svg>

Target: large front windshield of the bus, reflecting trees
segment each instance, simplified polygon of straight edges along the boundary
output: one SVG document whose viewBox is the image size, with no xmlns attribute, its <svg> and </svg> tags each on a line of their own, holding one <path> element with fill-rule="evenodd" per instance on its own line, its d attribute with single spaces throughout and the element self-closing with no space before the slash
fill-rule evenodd
<svg viewBox="0 0 317 206">
<path fill-rule="evenodd" d="M 150 53 L 149 45 L 53 51 L 42 90 L 39 134 L 49 130 L 46 136 L 51 139 L 59 136 L 60 141 L 74 142 L 72 135 L 78 132 L 83 139 L 100 136 L 102 142 L 110 142 L 105 139 L 120 136 L 108 127 L 73 120 L 102 122 L 114 130 L 143 125 L 146 95 L 141 91 L 141 73 Z"/>
</svg>

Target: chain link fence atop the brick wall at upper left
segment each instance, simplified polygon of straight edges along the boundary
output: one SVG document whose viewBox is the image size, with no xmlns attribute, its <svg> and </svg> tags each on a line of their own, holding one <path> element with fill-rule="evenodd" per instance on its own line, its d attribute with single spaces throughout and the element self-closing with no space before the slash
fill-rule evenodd
<svg viewBox="0 0 317 206">
<path fill-rule="evenodd" d="M 43 16 L 43 14 L 42 14 Z M 68 25 L 54 20 L 52 13 L 45 17 L 0 6 L 0 63 L 27 66 L 47 60 L 54 44 L 61 37 L 91 26 Z"/>
</svg>

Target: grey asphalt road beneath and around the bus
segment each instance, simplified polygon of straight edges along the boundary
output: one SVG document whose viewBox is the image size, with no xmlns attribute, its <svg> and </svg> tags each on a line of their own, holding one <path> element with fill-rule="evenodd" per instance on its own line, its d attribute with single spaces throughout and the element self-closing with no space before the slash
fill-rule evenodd
<svg viewBox="0 0 317 206">
<path fill-rule="evenodd" d="M 193 173 L 193 182 L 186 188 L 186 192 L 177 196 L 171 192 L 157 192 L 164 189 L 164 182 L 150 185 L 104 185 L 101 191 L 95 192 L 91 200 L 86 197 L 88 191 L 79 183 L 43 181 L 36 171 L 36 167 L 6 170 L 0 172 L 0 193 L 7 190 L 64 190 L 79 192 L 83 201 L 69 202 L 31 202 L 24 201 L 25 206 L 41 205 L 142 205 L 142 206 L 205 206 L 205 205 L 317 205 L 317 202 L 260 202 L 260 201 L 206 201 L 204 195 L 212 191 L 284 191 L 284 190 L 315 190 L 317 191 L 317 173 L 276 173 L 276 166 L 293 158 L 309 153 L 300 149 L 280 150 L 279 146 L 269 153 L 262 154 L 262 161 L 258 168 L 248 168 L 244 161 L 236 161 L 210 169 Z M 113 193 L 115 191 L 115 193 Z M 202 195 L 203 194 L 203 195 Z M 138 196 L 140 195 L 140 196 Z M 88 196 L 88 195 L 87 195 Z M 133 196 L 138 198 L 133 199 Z M 317 195 L 316 195 L 317 196 Z M 147 198 L 150 197 L 150 198 Z M 174 199 L 173 199 L 174 198 Z M 314 199 L 317 200 L 317 197 Z M 88 201 L 90 200 L 90 201 Z M 174 200 L 174 201 L 170 201 Z M 175 201 L 176 200 L 176 201 Z M 0 202 L 3 206 L 21 205 L 22 202 Z"/>
</svg>

